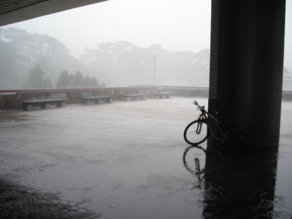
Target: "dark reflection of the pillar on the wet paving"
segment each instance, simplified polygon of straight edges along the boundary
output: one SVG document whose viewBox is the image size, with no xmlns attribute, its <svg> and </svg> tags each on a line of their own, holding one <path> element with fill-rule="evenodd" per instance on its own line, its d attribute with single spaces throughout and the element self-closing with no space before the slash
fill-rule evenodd
<svg viewBox="0 0 292 219">
<path fill-rule="evenodd" d="M 252 153 L 251 153 L 252 152 Z M 203 216 L 269 218 L 273 211 L 277 147 L 234 156 L 207 151 Z"/>
</svg>

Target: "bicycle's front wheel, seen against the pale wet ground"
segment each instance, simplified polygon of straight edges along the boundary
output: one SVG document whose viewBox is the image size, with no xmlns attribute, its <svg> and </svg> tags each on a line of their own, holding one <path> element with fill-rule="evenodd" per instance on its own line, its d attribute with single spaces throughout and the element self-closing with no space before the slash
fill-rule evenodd
<svg viewBox="0 0 292 219">
<path fill-rule="evenodd" d="M 190 145 L 199 145 L 209 136 L 208 125 L 205 120 L 191 122 L 184 130 L 183 137 Z"/>
</svg>

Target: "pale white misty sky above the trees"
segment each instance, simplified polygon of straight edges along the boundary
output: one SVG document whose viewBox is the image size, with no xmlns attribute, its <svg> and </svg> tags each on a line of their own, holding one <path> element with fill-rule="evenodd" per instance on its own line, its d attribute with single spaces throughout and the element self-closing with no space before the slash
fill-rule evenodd
<svg viewBox="0 0 292 219">
<path fill-rule="evenodd" d="M 85 47 L 126 40 L 165 50 L 210 49 L 211 0 L 108 0 L 8 26 L 46 34 L 78 57 Z M 292 0 L 286 0 L 284 66 L 292 69 Z"/>
</svg>

